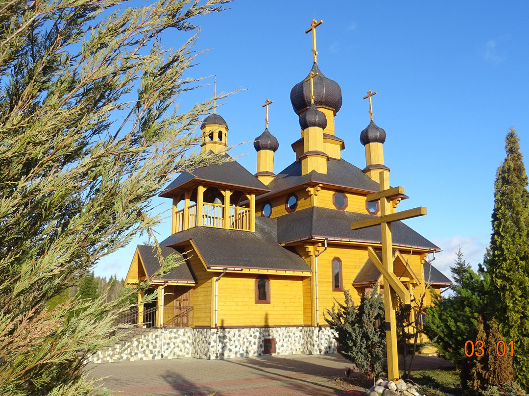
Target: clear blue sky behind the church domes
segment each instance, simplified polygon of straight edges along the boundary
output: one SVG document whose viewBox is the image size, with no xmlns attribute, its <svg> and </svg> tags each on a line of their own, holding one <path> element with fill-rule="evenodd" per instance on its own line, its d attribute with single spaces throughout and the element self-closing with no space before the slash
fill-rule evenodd
<svg viewBox="0 0 529 396">
<path fill-rule="evenodd" d="M 139 2 L 138 4 L 143 4 Z M 336 136 L 345 140 L 342 158 L 365 166 L 360 131 L 369 123 L 366 92 L 373 97 L 373 120 L 386 130 L 385 163 L 391 185 L 404 186 L 410 199 L 397 210 L 426 206 L 428 215 L 406 223 L 443 249 L 435 265 L 446 275 L 461 245 L 477 266 L 488 246 L 496 169 L 505 158 L 509 127 L 529 153 L 529 3 L 523 1 L 235 1 L 221 14 L 196 19 L 197 59 L 189 76 L 217 75 L 217 91 L 247 91 L 222 101 L 217 110 L 229 123 L 230 154 L 256 172 L 252 141 L 265 128 L 279 141 L 276 173 L 295 160 L 290 144 L 299 138 L 290 89 L 312 67 L 317 28 L 318 65 L 340 84 L 343 106 Z M 187 33 L 162 37 L 178 47 Z M 213 96 L 211 84 L 181 97 L 189 103 Z M 527 154 L 529 155 L 529 154 Z M 170 200 L 156 199 L 160 209 Z M 160 224 L 160 240 L 170 222 Z M 96 275 L 124 277 L 136 244 L 105 257 Z"/>
</svg>

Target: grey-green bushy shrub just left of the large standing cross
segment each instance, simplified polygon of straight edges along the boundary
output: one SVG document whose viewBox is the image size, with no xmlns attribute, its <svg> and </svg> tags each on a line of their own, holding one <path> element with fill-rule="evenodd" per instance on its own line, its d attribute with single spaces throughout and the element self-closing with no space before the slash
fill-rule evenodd
<svg viewBox="0 0 529 396">
<path fill-rule="evenodd" d="M 376 327 L 377 321 L 384 321 L 384 303 L 377 287 L 361 296 L 358 307 L 349 290 L 343 294 L 345 303 L 335 301 L 331 310 L 326 310 L 325 320 L 337 334 L 340 354 L 373 381 L 386 364 L 386 332 L 382 326 Z"/>
</svg>

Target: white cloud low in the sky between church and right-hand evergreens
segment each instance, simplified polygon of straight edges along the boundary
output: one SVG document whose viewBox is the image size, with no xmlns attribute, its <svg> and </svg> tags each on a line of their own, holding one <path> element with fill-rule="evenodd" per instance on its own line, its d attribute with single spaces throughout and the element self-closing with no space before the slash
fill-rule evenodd
<svg viewBox="0 0 529 396">
<path fill-rule="evenodd" d="M 472 237 L 461 237 L 456 235 L 452 238 L 432 239 L 432 242 L 443 251 L 435 255 L 432 263 L 444 275 L 451 278 L 450 266 L 454 264 L 455 251 L 461 246 L 464 259 L 467 260 L 473 269 L 478 268 L 478 264 L 483 262 L 485 250 L 489 246 L 490 235 L 476 235 Z M 429 257 L 432 258 L 432 255 Z"/>
</svg>

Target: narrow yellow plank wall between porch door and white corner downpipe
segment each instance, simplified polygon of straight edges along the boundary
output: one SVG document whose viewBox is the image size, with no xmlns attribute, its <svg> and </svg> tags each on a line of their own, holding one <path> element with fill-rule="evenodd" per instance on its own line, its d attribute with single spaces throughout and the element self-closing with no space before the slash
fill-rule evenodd
<svg viewBox="0 0 529 396">
<path fill-rule="evenodd" d="M 213 326 L 212 324 L 212 290 L 213 274 L 204 271 L 204 265 L 200 262 L 195 252 L 189 254 L 189 263 L 197 277 L 197 285 L 191 287 L 189 304 L 193 306 L 193 317 L 195 326 Z"/>
</svg>

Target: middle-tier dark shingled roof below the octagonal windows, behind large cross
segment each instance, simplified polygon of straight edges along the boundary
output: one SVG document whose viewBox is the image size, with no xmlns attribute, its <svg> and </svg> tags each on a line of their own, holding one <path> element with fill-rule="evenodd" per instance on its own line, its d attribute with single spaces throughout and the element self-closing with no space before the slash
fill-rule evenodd
<svg viewBox="0 0 529 396">
<path fill-rule="evenodd" d="M 380 226 L 351 230 L 352 222 L 372 217 L 376 216 L 328 208 L 307 208 L 278 218 L 277 240 L 282 244 L 307 238 L 329 238 L 379 244 Z M 441 250 L 403 222 L 392 223 L 391 230 L 396 246 Z"/>
</svg>

